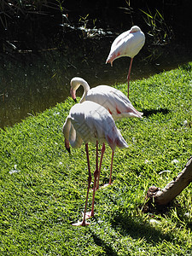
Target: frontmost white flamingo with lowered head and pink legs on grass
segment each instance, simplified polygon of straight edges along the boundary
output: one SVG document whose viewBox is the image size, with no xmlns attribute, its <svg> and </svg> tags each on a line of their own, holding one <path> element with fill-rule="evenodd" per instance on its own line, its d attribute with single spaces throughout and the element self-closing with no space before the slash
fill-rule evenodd
<svg viewBox="0 0 192 256">
<path fill-rule="evenodd" d="M 95 102 L 83 102 L 74 105 L 71 108 L 69 115 L 67 116 L 62 131 L 65 137 L 65 147 L 68 151 L 70 148 L 69 143 L 73 148 L 79 148 L 83 142 L 85 143 L 89 177 L 86 201 L 84 206 L 84 217 L 82 222 L 73 224 L 76 226 L 85 226 L 90 224 L 86 222 L 85 219 L 94 216 L 96 179 L 98 176 L 98 143 L 108 143 L 109 147 L 113 151 L 113 154 L 116 147 L 127 148 L 128 145 L 125 142 L 125 139 L 120 134 L 120 131 L 114 124 L 113 118 L 111 114 L 108 113 L 108 110 Z M 96 171 L 94 172 L 95 180 L 91 212 L 86 213 L 91 182 L 90 159 L 88 151 L 89 142 L 96 144 Z M 113 167 L 113 154 L 111 160 L 111 172 Z"/>
</svg>

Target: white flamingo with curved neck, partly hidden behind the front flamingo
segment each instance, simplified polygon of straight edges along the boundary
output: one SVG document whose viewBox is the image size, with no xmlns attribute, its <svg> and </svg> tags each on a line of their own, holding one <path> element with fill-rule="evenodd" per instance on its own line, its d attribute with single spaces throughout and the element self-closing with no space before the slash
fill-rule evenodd
<svg viewBox="0 0 192 256">
<path fill-rule="evenodd" d="M 132 106 L 130 100 L 120 90 L 108 85 L 98 85 L 95 88 L 90 89 L 90 85 L 84 79 L 79 77 L 73 78 L 70 84 L 70 93 L 75 102 L 77 102 L 76 90 L 78 90 L 79 86 L 82 85 L 84 87 L 84 94 L 79 103 L 84 101 L 96 102 L 102 105 L 102 107 L 108 109 L 108 112 L 112 114 L 114 120 L 129 117 L 142 118 L 143 113 L 138 112 L 137 109 Z M 99 189 L 99 178 L 104 152 L 105 144 L 103 143 L 96 189 Z"/>
</svg>

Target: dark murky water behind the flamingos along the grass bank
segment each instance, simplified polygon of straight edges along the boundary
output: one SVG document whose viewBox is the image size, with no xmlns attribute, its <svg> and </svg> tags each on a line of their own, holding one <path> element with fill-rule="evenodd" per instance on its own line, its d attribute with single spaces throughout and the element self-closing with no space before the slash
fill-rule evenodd
<svg viewBox="0 0 192 256">
<path fill-rule="evenodd" d="M 38 53 L 8 55 L 0 69 L 0 127 L 12 126 L 28 115 L 64 102 L 74 76 L 88 81 L 90 87 L 126 82 L 130 58 L 124 57 L 106 65 L 115 35 L 70 41 L 64 49 L 46 49 Z M 74 41 L 74 40 L 73 40 Z M 157 56 L 159 56 L 157 58 Z M 149 61 L 150 59 L 150 61 Z M 148 78 L 154 73 L 177 68 L 192 61 L 183 44 L 153 48 L 147 44 L 134 58 L 131 81 Z M 82 90 L 79 90 L 79 96 Z"/>
</svg>

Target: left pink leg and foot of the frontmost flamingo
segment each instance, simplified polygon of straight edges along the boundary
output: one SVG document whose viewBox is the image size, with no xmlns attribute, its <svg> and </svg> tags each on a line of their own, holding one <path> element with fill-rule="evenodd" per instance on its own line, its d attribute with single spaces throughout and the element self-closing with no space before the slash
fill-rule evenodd
<svg viewBox="0 0 192 256">
<path fill-rule="evenodd" d="M 85 151 L 87 155 L 87 165 L 88 165 L 88 171 L 89 171 L 89 177 L 88 177 L 88 188 L 87 188 L 87 195 L 86 195 L 86 201 L 85 201 L 85 206 L 84 206 L 84 218 L 82 222 L 78 222 L 73 224 L 73 226 L 86 226 L 89 225 L 90 223 L 85 221 L 86 217 L 86 210 L 87 210 L 87 202 L 88 202 L 88 195 L 90 191 L 90 183 L 91 183 L 91 172 L 90 172 L 90 158 L 89 158 L 89 150 L 88 150 L 88 143 L 85 144 Z"/>
</svg>

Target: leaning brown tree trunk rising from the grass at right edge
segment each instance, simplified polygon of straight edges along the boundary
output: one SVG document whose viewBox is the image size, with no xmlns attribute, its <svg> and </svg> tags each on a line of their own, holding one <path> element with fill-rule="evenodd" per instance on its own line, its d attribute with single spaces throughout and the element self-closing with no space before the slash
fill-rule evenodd
<svg viewBox="0 0 192 256">
<path fill-rule="evenodd" d="M 177 177 L 166 185 L 164 189 L 152 186 L 148 189 L 146 198 L 153 201 L 156 205 L 167 205 L 177 195 L 179 195 L 189 183 L 192 182 L 192 156 L 184 166 L 182 172 L 179 172 Z"/>
</svg>

